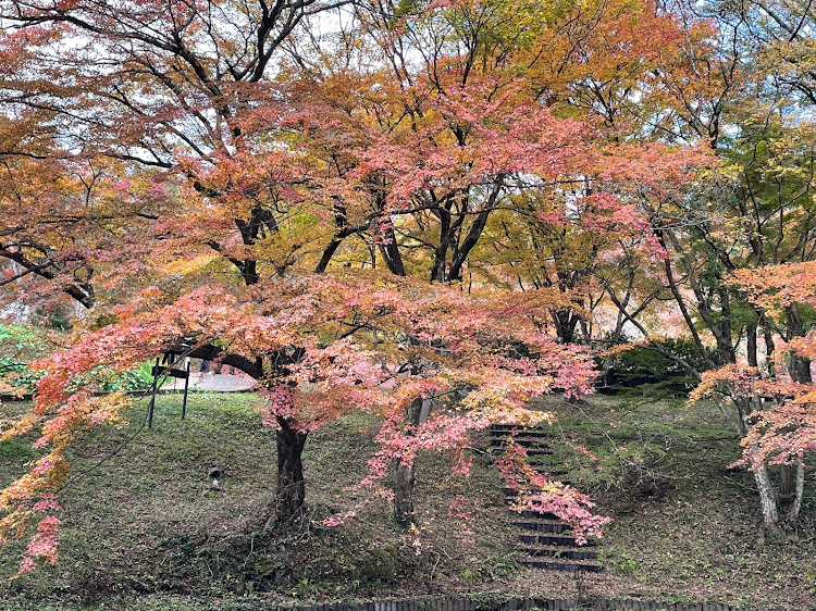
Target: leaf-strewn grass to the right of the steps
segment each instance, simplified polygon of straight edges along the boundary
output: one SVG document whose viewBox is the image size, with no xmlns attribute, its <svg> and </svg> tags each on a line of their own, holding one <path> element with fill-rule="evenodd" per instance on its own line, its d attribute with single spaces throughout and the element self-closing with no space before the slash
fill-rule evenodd
<svg viewBox="0 0 816 611">
<path fill-rule="evenodd" d="M 753 477 L 727 469 L 740 447 L 712 406 L 593 398 L 548 407 L 558 416 L 553 433 L 565 441 L 554 462 L 614 518 L 603 545 L 607 571 L 586 578 L 590 594 L 816 604 L 812 471 L 799 529 L 774 541 L 763 536 Z"/>
</svg>

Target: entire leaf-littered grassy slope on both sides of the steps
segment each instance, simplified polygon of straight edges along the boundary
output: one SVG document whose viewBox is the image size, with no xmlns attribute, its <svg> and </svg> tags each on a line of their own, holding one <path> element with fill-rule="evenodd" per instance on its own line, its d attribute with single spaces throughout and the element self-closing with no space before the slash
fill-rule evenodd
<svg viewBox="0 0 816 611">
<path fill-rule="evenodd" d="M 421 457 L 421 526 L 407 532 L 394 526 L 387 501 L 356 487 L 376 429 L 364 414 L 309 439 L 309 515 L 264 533 L 274 437 L 261 429 L 252 398 L 195 395 L 184 422 L 177 417 L 180 401 L 163 397 L 153 431 L 124 447 L 144 404 L 133 409 L 128 427 L 100 429 L 77 447 L 76 474 L 119 451 L 70 482 L 62 494 L 60 563 L 0 584 L 0 609 L 121 608 L 122 602 L 104 602 L 116 596 L 139 609 L 205 609 L 214 599 L 251 608 L 256 599 L 286 603 L 448 591 L 787 609 L 816 603 L 813 487 L 792 540 L 759 541 L 751 476 L 725 467 L 739 448 L 721 416 L 706 408 L 608 399 L 545 406 L 559 415 L 555 435 L 598 458 L 564 449 L 556 462 L 567 464 L 570 478 L 615 518 L 603 546 L 607 571 L 577 581 L 514 565 L 515 537 L 498 477 L 481 454 L 468 479 L 452 477 L 445 457 Z M 606 426 L 610 422 L 615 427 Z M 17 441 L 0 444 L 0 484 L 20 472 L 28 452 Z M 225 472 L 222 490 L 209 487 L 212 466 Z M 457 495 L 469 499 L 467 520 L 450 509 Z M 320 524 L 349 509 L 357 516 L 347 525 Z M 15 551 L 0 557 L 0 576 L 14 573 Z"/>
</svg>

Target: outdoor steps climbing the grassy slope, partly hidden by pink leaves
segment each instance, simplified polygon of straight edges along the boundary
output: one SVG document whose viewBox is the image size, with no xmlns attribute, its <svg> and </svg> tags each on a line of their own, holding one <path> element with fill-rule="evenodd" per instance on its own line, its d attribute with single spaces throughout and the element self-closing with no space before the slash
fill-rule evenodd
<svg viewBox="0 0 816 611">
<path fill-rule="evenodd" d="M 524 448 L 528 464 L 536 472 L 569 484 L 562 478 L 566 471 L 549 469 L 553 450 L 545 429 L 494 424 L 489 434 L 490 448 L 496 457 L 500 456 L 508 438 L 512 437 L 514 442 Z M 502 488 L 502 491 L 508 502 L 518 496 L 518 491 L 510 487 Z M 518 531 L 519 564 L 549 571 L 601 571 L 597 543 L 590 540 L 586 545 L 579 546 L 569 524 L 557 515 L 544 511 L 508 511 L 514 519 L 512 525 Z"/>
</svg>

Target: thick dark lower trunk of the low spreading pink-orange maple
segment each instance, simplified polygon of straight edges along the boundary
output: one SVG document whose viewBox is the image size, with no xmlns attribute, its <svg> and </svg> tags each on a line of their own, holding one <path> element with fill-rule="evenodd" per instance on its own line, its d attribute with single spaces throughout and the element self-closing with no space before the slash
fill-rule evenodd
<svg viewBox="0 0 816 611">
<path fill-rule="evenodd" d="M 275 497 L 270 502 L 270 520 L 290 520 L 300 514 L 306 499 L 302 452 L 307 433 L 292 427 L 292 423 L 279 417 L 277 485 Z"/>
</svg>

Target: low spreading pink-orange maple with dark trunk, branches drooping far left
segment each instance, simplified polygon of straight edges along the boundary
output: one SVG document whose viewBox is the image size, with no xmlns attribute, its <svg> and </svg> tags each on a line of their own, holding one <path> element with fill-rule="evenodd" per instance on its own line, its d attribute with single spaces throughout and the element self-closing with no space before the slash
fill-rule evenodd
<svg viewBox="0 0 816 611">
<path fill-rule="evenodd" d="M 259 292 L 242 302 L 227 288 L 203 286 L 165 303 L 166 295 L 150 289 L 119 310 L 119 322 L 85 334 L 69 350 L 36 365 L 46 373 L 36 406 L 3 433 L 9 438 L 36 425 L 41 436 L 35 447 L 49 448 L 30 473 L 0 492 L 9 512 L 2 521 L 4 539 L 27 521 L 39 520 L 22 570 L 32 568 L 36 557 L 53 558 L 57 522 L 42 514 L 57 510 L 53 490 L 66 474 L 70 444 L 89 426 L 116 422 L 129 403 L 119 392 L 95 397 L 95 382 L 106 371 L 127 369 L 168 346 L 195 351 L 218 342 L 226 351 L 224 362 L 263 370 L 255 373 L 264 386 L 263 419 L 277 429 L 273 502 L 282 515 L 304 501 L 300 451 L 309 432 L 349 410 L 385 416 L 383 450 L 372 461 L 375 477 L 395 459 L 410 467 L 419 449 L 461 451 L 468 431 L 495 420 L 547 417 L 529 411 L 531 397 L 554 388 L 585 392 L 593 377 L 585 351 L 556 345 L 539 331 L 536 320 L 548 315 L 551 295 L 541 296 L 540 308 L 530 308 L 524 296 L 521 309 L 515 294 L 475 299 L 444 285 L 429 290 L 424 283 L 391 274 L 286 278 Z M 532 354 L 520 354 L 522 345 Z M 411 369 L 412 375 L 400 373 Z M 431 401 L 456 391 L 465 394 L 452 401 L 456 410 L 405 427 L 404 411 L 418 395 Z M 555 484 L 551 488 L 559 490 Z M 597 525 L 591 514 L 571 509 L 583 499 L 567 492 L 558 513 Z"/>
</svg>

